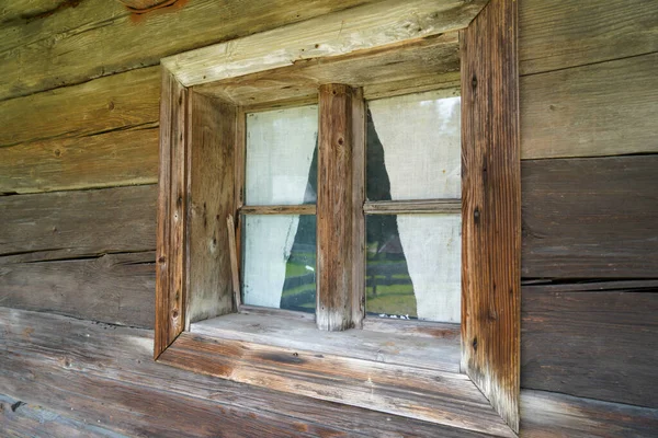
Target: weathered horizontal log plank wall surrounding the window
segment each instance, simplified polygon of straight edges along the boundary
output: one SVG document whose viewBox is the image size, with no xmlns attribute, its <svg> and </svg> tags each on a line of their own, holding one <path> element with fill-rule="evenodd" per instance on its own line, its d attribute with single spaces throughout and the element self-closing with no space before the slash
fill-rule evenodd
<svg viewBox="0 0 658 438">
<path fill-rule="evenodd" d="M 0 8 L 0 430 L 464 436 L 150 359 L 159 59 L 364 2 Z M 658 3 L 522 0 L 519 47 L 521 435 L 650 436 Z"/>
</svg>

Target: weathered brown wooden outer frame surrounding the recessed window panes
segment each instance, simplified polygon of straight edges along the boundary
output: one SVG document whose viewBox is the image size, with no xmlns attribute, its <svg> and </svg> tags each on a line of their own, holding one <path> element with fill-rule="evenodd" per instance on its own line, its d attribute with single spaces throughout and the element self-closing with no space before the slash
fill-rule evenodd
<svg viewBox="0 0 658 438">
<path fill-rule="evenodd" d="M 164 58 L 155 358 L 300 395 L 514 436 L 519 430 L 521 253 L 517 3 L 383 1 Z M 405 54 L 417 49 L 436 50 L 441 57 L 457 33 L 463 374 L 190 333 L 191 320 L 236 310 L 226 220 L 242 205 L 235 181 L 243 175 L 235 163 L 243 160 L 243 147 L 236 139 L 243 138 L 245 106 L 304 102 L 309 90 L 332 82 L 362 89 L 366 96 L 383 89 L 409 93 L 435 88 L 441 79 L 431 66 L 409 81 L 400 76 L 409 68 L 396 70 L 401 61 L 393 58 L 402 54 L 402 61 L 413 62 Z M 376 68 L 392 69 L 384 72 L 398 80 L 383 84 L 367 82 L 363 74 L 340 77 L 345 62 L 361 62 L 365 71 L 373 71 L 371 60 Z M 421 58 L 411 70 L 421 71 L 423 65 L 431 61 Z M 293 82 L 282 79 L 286 77 Z M 338 196 L 349 208 L 363 206 L 351 189 Z M 318 204 L 318 214 L 321 210 Z M 356 251 L 348 246 L 341 250 L 345 262 Z M 235 260 L 234 253 L 234 264 Z M 352 269 L 349 263 L 339 268 Z M 354 303 L 350 309 L 350 319 L 362 312 Z M 344 326 L 344 319 L 337 326 Z M 486 403 L 475 399 L 478 391 Z"/>
</svg>

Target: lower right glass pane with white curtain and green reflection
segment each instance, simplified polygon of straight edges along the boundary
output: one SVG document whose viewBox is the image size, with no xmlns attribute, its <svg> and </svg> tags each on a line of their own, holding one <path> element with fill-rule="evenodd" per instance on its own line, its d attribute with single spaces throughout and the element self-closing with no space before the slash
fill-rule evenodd
<svg viewBox="0 0 658 438">
<path fill-rule="evenodd" d="M 460 214 L 368 215 L 366 312 L 460 322 L 461 234 Z"/>
</svg>

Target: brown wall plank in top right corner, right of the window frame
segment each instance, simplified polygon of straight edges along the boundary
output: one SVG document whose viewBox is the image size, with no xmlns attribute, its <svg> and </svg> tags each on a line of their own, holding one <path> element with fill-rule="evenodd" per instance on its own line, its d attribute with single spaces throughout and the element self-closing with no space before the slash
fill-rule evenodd
<svg viewBox="0 0 658 438">
<path fill-rule="evenodd" d="M 655 1 L 524 0 L 519 5 L 522 76 L 651 51 L 658 51 Z"/>
</svg>

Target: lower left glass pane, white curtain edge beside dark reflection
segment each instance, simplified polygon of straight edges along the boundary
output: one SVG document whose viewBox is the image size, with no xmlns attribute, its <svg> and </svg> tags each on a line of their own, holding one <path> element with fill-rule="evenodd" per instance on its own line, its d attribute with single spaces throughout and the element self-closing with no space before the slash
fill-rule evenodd
<svg viewBox="0 0 658 438">
<path fill-rule="evenodd" d="M 316 218 L 243 216 L 242 302 L 315 313 Z"/>
</svg>

